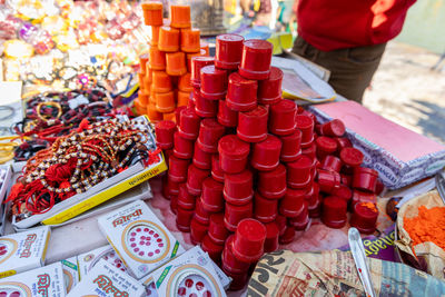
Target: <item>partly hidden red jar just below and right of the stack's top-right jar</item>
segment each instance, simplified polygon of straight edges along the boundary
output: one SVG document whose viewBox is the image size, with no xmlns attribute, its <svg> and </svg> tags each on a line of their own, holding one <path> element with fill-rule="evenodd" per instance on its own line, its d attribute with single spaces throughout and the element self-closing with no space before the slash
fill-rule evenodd
<svg viewBox="0 0 445 297">
<path fill-rule="evenodd" d="M 268 79 L 258 81 L 258 102 L 260 105 L 275 105 L 281 100 L 283 70 L 270 67 Z"/>
</svg>

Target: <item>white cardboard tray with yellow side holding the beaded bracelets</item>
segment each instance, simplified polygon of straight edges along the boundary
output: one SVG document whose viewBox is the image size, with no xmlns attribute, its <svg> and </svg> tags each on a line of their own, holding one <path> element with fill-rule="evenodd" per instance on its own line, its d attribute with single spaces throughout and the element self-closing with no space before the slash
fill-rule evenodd
<svg viewBox="0 0 445 297">
<path fill-rule="evenodd" d="M 146 117 L 139 117 L 136 120 L 144 119 L 146 125 L 150 125 Z M 154 133 L 148 136 L 151 146 L 156 148 L 156 140 Z M 12 218 L 14 228 L 24 229 L 36 224 L 42 222 L 44 225 L 59 225 L 62 224 L 85 211 L 91 209 L 112 197 L 159 175 L 167 170 L 164 155 L 159 154 L 159 161 L 145 168 L 141 162 L 137 162 L 128 169 L 115 175 L 102 182 L 89 188 L 87 191 L 77 194 L 69 199 L 56 204 L 50 210 L 44 214 L 33 215 L 22 220 Z"/>
</svg>

